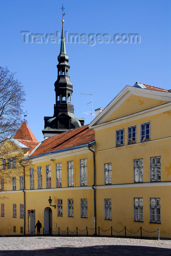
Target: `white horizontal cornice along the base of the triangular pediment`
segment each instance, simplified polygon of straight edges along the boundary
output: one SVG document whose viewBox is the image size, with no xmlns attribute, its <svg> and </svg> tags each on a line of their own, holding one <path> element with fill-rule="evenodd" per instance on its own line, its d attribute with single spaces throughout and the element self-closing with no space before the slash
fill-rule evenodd
<svg viewBox="0 0 171 256">
<path fill-rule="evenodd" d="M 130 114 L 128 116 L 120 117 L 115 120 L 107 121 L 105 123 L 100 123 L 100 124 L 94 125 L 91 128 L 94 129 L 94 131 L 98 131 L 101 129 L 113 127 L 114 125 L 119 125 L 119 124 L 127 123 L 130 121 L 134 121 L 134 120 L 137 120 L 137 119 L 140 119 L 143 117 L 149 117 L 149 116 L 159 114 L 159 113 L 162 113 L 162 112 L 165 112 L 168 110 L 171 110 L 171 102 L 168 102 L 168 103 L 160 105 L 160 106 L 156 106 L 151 109 L 146 109 L 146 110 L 134 113 L 134 114 Z"/>
</svg>

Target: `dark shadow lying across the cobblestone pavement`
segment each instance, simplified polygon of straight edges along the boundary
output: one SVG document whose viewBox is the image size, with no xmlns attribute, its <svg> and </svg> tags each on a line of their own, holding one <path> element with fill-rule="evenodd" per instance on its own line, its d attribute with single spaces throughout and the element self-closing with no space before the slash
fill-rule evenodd
<svg viewBox="0 0 171 256">
<path fill-rule="evenodd" d="M 52 249 L 39 250 L 4 250 L 0 255 L 171 255 L 171 249 L 148 246 L 129 245 L 98 245 L 75 247 L 74 245 L 61 245 Z"/>
</svg>

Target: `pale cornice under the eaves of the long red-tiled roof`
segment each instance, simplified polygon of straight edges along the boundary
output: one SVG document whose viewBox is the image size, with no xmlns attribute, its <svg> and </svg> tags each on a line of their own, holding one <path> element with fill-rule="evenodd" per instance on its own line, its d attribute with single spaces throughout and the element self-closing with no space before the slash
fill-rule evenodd
<svg viewBox="0 0 171 256">
<path fill-rule="evenodd" d="M 80 155 L 84 153 L 90 153 L 90 150 L 88 150 L 87 147 L 83 148 L 77 148 L 69 151 L 62 151 L 60 153 L 51 153 L 49 155 L 43 155 L 41 157 L 36 157 L 32 159 L 32 163 L 40 163 L 40 162 L 45 162 L 49 161 L 50 159 L 58 159 L 58 158 L 63 158 L 63 157 L 72 157 L 73 155 Z"/>
</svg>

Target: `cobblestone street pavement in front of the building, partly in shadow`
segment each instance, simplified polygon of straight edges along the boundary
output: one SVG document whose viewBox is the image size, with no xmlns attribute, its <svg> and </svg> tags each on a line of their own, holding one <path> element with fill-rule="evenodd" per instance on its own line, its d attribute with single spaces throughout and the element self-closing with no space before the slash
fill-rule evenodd
<svg viewBox="0 0 171 256">
<path fill-rule="evenodd" d="M 114 237 L 0 237 L 1 255 L 171 255 L 171 240 Z"/>
</svg>

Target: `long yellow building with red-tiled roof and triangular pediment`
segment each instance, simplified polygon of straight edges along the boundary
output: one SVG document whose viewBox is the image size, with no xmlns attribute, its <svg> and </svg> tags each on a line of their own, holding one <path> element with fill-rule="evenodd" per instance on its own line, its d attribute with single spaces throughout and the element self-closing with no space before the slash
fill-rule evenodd
<svg viewBox="0 0 171 256">
<path fill-rule="evenodd" d="M 67 234 L 68 227 L 69 234 L 124 236 L 126 226 L 128 236 L 142 227 L 142 236 L 157 237 L 147 231 L 160 228 L 160 237 L 171 238 L 170 152 L 171 92 L 126 86 L 90 125 L 32 151 L 24 189 L 17 177 L 16 190 L 11 180 L 0 192 L 0 234 L 34 234 L 39 220 L 41 234 Z"/>
</svg>

